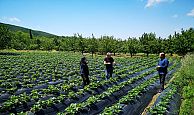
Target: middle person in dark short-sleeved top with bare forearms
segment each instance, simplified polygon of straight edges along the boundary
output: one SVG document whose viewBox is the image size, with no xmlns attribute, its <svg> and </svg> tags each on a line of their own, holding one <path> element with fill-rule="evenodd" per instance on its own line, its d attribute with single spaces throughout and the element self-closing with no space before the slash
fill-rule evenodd
<svg viewBox="0 0 194 115">
<path fill-rule="evenodd" d="M 112 77 L 113 64 L 115 64 L 110 52 L 106 54 L 106 57 L 104 58 L 104 64 L 106 65 L 106 78 L 109 79 Z"/>
</svg>

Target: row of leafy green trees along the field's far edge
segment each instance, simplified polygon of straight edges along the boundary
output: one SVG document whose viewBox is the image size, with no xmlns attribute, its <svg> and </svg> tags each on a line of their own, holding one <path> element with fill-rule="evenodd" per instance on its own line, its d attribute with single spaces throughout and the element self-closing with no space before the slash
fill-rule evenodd
<svg viewBox="0 0 194 115">
<path fill-rule="evenodd" d="M 155 33 L 143 33 L 141 37 L 118 39 L 114 36 L 84 38 L 81 34 L 73 36 L 34 36 L 33 32 L 10 31 L 0 25 L 0 49 L 16 50 L 57 50 L 100 53 L 136 53 L 158 54 L 159 52 L 185 55 L 194 51 L 194 29 L 181 30 L 180 33 L 169 35 L 168 38 L 156 37 Z"/>
</svg>

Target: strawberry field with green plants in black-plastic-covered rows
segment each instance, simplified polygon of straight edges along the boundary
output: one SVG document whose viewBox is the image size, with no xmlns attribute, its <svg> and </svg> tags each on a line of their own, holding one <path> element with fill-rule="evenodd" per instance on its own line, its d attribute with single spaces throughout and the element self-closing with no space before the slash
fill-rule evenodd
<svg viewBox="0 0 194 115">
<path fill-rule="evenodd" d="M 158 57 L 114 57 L 114 74 L 105 78 L 103 56 L 87 55 L 91 83 L 80 76 L 78 53 L 20 52 L 0 55 L 2 115 L 128 115 L 141 114 L 157 93 Z M 166 83 L 180 59 L 168 57 Z M 168 84 L 146 114 L 172 114 L 179 108 L 177 86 Z M 174 101 L 172 100 L 174 99 Z M 176 104 L 171 110 L 172 104 Z"/>
</svg>

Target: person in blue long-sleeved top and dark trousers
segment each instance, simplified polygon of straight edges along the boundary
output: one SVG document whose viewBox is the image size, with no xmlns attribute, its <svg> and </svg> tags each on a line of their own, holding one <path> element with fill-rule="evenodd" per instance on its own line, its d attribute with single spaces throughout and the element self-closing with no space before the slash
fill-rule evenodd
<svg viewBox="0 0 194 115">
<path fill-rule="evenodd" d="M 168 68 L 169 61 L 165 58 L 164 53 L 160 53 L 160 60 L 158 62 L 157 71 L 160 77 L 160 87 L 161 89 L 159 92 L 164 90 L 164 83 L 165 83 L 165 77 L 167 74 L 167 68 Z"/>
</svg>

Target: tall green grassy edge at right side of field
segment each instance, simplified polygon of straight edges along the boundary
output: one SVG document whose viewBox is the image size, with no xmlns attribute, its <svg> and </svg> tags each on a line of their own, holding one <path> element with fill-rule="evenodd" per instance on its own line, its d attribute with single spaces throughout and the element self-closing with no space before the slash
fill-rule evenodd
<svg viewBox="0 0 194 115">
<path fill-rule="evenodd" d="M 194 115 L 194 53 L 185 55 L 173 84 L 180 86 L 182 103 L 179 115 Z"/>
</svg>

